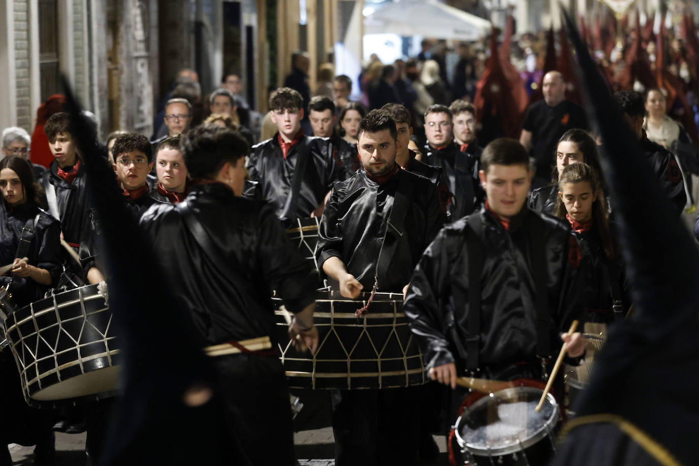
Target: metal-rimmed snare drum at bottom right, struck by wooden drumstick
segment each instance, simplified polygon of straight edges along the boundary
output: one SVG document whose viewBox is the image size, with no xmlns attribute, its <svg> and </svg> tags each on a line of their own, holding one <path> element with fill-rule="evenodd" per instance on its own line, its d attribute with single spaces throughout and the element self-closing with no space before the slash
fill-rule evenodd
<svg viewBox="0 0 699 466">
<path fill-rule="evenodd" d="M 542 394 L 533 387 L 505 388 L 464 409 L 454 426 L 464 464 L 547 465 L 556 451 L 560 411 L 549 393 L 536 412 Z"/>
</svg>

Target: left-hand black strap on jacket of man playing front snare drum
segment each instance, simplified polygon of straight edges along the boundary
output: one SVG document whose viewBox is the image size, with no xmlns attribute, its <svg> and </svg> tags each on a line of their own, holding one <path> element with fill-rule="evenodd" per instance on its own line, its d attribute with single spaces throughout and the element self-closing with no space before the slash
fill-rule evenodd
<svg viewBox="0 0 699 466">
<path fill-rule="evenodd" d="M 466 369 L 478 369 L 480 353 L 480 314 L 481 314 L 481 274 L 485 263 L 483 242 L 477 232 L 482 231 L 482 219 L 475 213 L 468 217 L 466 224 L 466 247 L 468 254 L 468 321 L 466 336 Z M 454 291 L 454 306 L 463 309 L 466 299 L 461 291 Z"/>
</svg>

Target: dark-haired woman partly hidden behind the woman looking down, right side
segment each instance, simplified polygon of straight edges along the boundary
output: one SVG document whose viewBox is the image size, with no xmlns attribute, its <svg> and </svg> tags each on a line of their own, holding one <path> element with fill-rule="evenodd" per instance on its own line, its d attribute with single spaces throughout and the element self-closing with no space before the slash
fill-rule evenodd
<svg viewBox="0 0 699 466">
<path fill-rule="evenodd" d="M 597 154 L 597 144 L 589 133 L 583 129 L 569 129 L 565 131 L 561 139 L 559 139 L 559 143 L 556 144 L 554 162 L 551 170 L 551 184 L 534 189 L 529 196 L 529 208 L 537 212 L 554 214 L 559 193 L 559 174 L 563 168 L 572 163 L 582 162 L 595 170 L 598 177 L 602 173 Z M 606 191 L 606 189 L 603 190 Z"/>
</svg>

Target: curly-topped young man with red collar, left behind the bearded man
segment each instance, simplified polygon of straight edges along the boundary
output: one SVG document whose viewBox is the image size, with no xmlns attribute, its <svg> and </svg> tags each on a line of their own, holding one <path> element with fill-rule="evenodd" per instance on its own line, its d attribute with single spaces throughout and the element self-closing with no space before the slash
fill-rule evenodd
<svg viewBox="0 0 699 466">
<path fill-rule="evenodd" d="M 345 179 L 345 170 L 335 163 L 329 140 L 303 133 L 301 94 L 281 87 L 270 96 L 269 108 L 279 131 L 252 147 L 247 173 L 256 184 L 254 193 L 245 194 L 271 203 L 284 221 L 320 217 L 326 195 L 333 182 Z"/>
</svg>

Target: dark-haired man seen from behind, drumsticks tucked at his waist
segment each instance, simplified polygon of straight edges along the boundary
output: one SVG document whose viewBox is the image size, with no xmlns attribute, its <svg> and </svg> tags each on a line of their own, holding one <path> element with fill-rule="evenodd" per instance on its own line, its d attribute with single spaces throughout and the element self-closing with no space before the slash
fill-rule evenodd
<svg viewBox="0 0 699 466">
<path fill-rule="evenodd" d="M 182 145 L 192 176 L 189 194 L 176 205 L 153 205 L 140 226 L 191 317 L 192 331 L 206 354 L 215 356 L 215 395 L 225 407 L 220 429 L 231 449 L 222 451 L 224 464 L 294 466 L 271 296 L 275 290 L 294 314 L 291 340 L 315 352 L 314 282 L 275 207 L 240 197 L 249 151 L 231 129 L 204 125 L 189 131 Z M 249 463 L 236 462 L 236 444 Z"/>
</svg>

